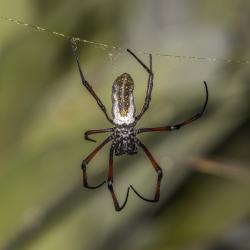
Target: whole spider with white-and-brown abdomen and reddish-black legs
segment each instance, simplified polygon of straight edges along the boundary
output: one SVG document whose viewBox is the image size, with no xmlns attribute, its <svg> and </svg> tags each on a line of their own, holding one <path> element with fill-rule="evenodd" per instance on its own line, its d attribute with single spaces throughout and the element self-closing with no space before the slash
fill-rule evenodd
<svg viewBox="0 0 250 250">
<path fill-rule="evenodd" d="M 161 186 L 161 180 L 162 180 L 162 169 L 150 153 L 150 151 L 147 149 L 147 147 L 137 138 L 138 134 L 145 133 L 145 132 L 155 132 L 155 131 L 174 131 L 178 130 L 181 127 L 188 125 L 195 120 L 199 119 L 207 106 L 208 102 L 208 87 L 207 83 L 204 81 L 204 87 L 206 92 L 206 98 L 203 105 L 203 108 L 200 112 L 192 116 L 191 118 L 184 120 L 183 122 L 180 122 L 175 125 L 170 126 L 163 126 L 163 127 L 155 127 L 155 128 L 135 128 L 137 122 L 142 118 L 144 113 L 148 110 L 149 104 L 151 101 L 151 93 L 153 89 L 153 78 L 154 74 L 152 71 L 152 54 L 149 54 L 149 66 L 144 64 L 136 55 L 133 53 L 130 49 L 127 49 L 127 52 L 146 70 L 148 74 L 148 82 L 147 82 L 147 92 L 146 92 L 146 98 L 144 105 L 140 111 L 139 114 L 136 114 L 135 110 L 135 104 L 134 104 L 134 96 L 133 96 L 133 90 L 134 90 L 134 81 L 130 74 L 123 73 L 122 75 L 118 76 L 113 85 L 112 85 L 112 116 L 113 119 L 110 118 L 110 116 L 107 113 L 106 107 L 103 105 L 100 98 L 96 95 L 94 90 L 92 89 L 91 85 L 88 83 L 88 81 L 85 79 L 80 63 L 79 63 L 79 56 L 78 56 L 78 48 L 76 41 L 74 39 L 71 39 L 71 46 L 73 49 L 73 54 L 77 63 L 77 67 L 80 73 L 81 81 L 84 87 L 89 91 L 89 93 L 94 97 L 96 100 L 99 108 L 102 110 L 104 115 L 106 116 L 107 120 L 114 125 L 112 128 L 104 128 L 104 129 L 95 129 L 95 130 L 88 130 L 85 132 L 85 139 L 96 142 L 89 136 L 91 134 L 97 134 L 97 133 L 105 133 L 105 132 L 111 132 L 111 135 L 108 136 L 99 146 L 97 146 L 83 161 L 82 161 L 82 173 L 83 173 L 83 186 L 89 189 L 96 189 L 101 187 L 106 181 L 103 181 L 99 185 L 92 186 L 89 185 L 88 178 L 87 178 L 87 166 L 89 162 L 95 157 L 95 155 L 101 150 L 101 148 L 106 145 L 108 142 L 111 143 L 110 153 L 109 153 L 109 170 L 108 170 L 108 177 L 107 177 L 107 184 L 108 189 L 111 193 L 114 207 L 116 211 L 121 211 L 127 201 L 129 196 L 129 191 L 132 189 L 135 194 L 140 197 L 142 200 L 147 202 L 157 202 L 160 198 L 160 186 Z M 157 182 L 155 187 L 155 193 L 154 197 L 149 199 L 143 197 L 139 192 L 136 191 L 136 189 L 130 185 L 127 188 L 126 198 L 123 204 L 120 205 L 118 202 L 114 187 L 113 187 L 113 156 L 114 154 L 116 156 L 120 155 L 133 155 L 137 154 L 138 147 L 140 147 L 150 160 L 154 171 L 157 174 Z"/>
</svg>

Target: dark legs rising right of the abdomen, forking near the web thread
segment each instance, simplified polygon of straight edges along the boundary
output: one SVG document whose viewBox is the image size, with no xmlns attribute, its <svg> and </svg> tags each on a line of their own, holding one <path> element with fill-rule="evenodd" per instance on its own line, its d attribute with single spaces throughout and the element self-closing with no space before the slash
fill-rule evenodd
<svg viewBox="0 0 250 250">
<path fill-rule="evenodd" d="M 145 102 L 143 104 L 141 112 L 135 117 L 136 121 L 139 121 L 143 114 L 147 111 L 150 101 L 151 101 L 151 93 L 153 89 L 153 78 L 154 74 L 152 71 L 152 55 L 149 55 L 149 67 L 145 65 L 141 59 L 139 59 L 130 49 L 127 49 L 127 51 L 142 65 L 142 67 L 148 72 L 148 85 L 147 85 L 147 92 L 146 92 L 146 98 Z"/>
</svg>

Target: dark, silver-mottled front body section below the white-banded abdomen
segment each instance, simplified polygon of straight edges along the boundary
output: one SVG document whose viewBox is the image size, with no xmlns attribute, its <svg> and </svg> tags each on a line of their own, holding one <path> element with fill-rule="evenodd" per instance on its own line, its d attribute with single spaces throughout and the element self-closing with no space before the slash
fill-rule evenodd
<svg viewBox="0 0 250 250">
<path fill-rule="evenodd" d="M 113 147 L 115 155 L 136 154 L 136 137 L 134 127 L 122 126 L 114 130 Z"/>
</svg>

